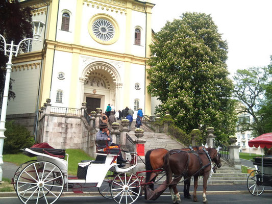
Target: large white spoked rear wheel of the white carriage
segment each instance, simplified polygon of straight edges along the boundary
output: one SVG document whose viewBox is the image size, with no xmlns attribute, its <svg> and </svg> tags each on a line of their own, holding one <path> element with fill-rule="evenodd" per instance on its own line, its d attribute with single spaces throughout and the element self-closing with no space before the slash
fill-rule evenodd
<svg viewBox="0 0 272 204">
<path fill-rule="evenodd" d="M 16 182 L 16 193 L 22 203 L 44 197 L 46 204 L 54 203 L 62 194 L 64 177 L 51 162 L 39 161 L 22 169 Z"/>
</svg>

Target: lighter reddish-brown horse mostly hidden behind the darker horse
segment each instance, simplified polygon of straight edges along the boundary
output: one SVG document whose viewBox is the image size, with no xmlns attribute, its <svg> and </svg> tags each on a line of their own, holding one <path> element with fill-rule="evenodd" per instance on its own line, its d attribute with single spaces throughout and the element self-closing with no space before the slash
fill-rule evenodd
<svg viewBox="0 0 272 204">
<path fill-rule="evenodd" d="M 202 149 L 202 146 L 193 146 L 192 149 L 195 150 L 200 150 Z M 181 150 L 184 151 L 190 151 L 192 150 L 191 148 L 182 148 Z M 148 150 L 145 154 L 145 170 L 158 170 L 162 169 L 164 161 L 163 157 L 168 153 L 167 149 L 164 148 L 157 148 L 157 149 L 151 149 Z M 154 177 L 153 177 L 154 176 Z M 153 177 L 153 179 L 150 179 Z M 146 172 L 145 173 L 145 181 L 146 182 L 155 182 L 157 175 L 152 172 Z M 190 182 L 191 180 L 188 179 L 184 182 L 184 197 L 190 198 Z M 154 190 L 154 185 L 149 186 L 152 190 Z"/>
</svg>

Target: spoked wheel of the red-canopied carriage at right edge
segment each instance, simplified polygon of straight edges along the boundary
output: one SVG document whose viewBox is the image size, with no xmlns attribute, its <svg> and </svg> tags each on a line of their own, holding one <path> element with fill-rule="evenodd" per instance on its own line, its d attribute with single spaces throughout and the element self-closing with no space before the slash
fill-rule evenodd
<svg viewBox="0 0 272 204">
<path fill-rule="evenodd" d="M 258 173 L 260 173 L 260 171 L 255 170 L 255 171 L 252 171 L 250 175 L 248 176 L 248 182 L 247 182 L 248 190 L 254 196 L 261 195 L 265 189 L 265 186 L 259 186 L 257 184 Z"/>
</svg>

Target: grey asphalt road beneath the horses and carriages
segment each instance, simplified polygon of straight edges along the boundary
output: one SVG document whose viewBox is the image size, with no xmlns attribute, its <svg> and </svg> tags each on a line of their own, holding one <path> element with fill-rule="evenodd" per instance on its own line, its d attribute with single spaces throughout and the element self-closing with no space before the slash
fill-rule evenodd
<svg viewBox="0 0 272 204">
<path fill-rule="evenodd" d="M 182 197 L 182 204 L 185 203 L 202 203 L 202 195 L 197 195 L 198 202 L 193 202 L 191 199 L 186 199 Z M 218 203 L 218 204 L 230 204 L 230 203 L 239 203 L 239 204 L 270 204 L 272 202 L 271 193 L 263 193 L 260 196 L 253 196 L 251 194 L 225 194 L 225 195 L 207 195 L 209 203 Z M 44 201 L 44 199 L 43 199 Z M 21 203 L 18 198 L 1 198 L 1 204 L 19 204 Z M 29 201 L 28 204 L 36 203 L 35 201 Z M 43 204 L 45 202 L 39 202 Z M 89 204 L 89 203 L 100 203 L 100 204 L 111 204 L 116 203 L 114 200 L 108 200 L 102 196 L 92 196 L 92 197 L 61 197 L 56 202 L 56 204 Z M 159 204 L 159 203 L 172 203 L 170 196 L 160 196 L 157 200 L 144 200 L 144 197 L 139 197 L 135 203 L 148 203 L 148 204 Z"/>
</svg>

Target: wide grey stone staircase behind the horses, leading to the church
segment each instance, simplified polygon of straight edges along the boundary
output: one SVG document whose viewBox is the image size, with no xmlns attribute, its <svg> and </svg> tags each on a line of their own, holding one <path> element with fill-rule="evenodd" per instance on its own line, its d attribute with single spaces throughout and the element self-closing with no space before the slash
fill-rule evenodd
<svg viewBox="0 0 272 204">
<path fill-rule="evenodd" d="M 134 135 L 135 121 L 131 124 L 131 131 L 129 132 L 130 137 L 133 140 L 137 138 Z M 165 148 L 165 149 L 180 149 L 185 147 L 183 144 L 172 138 L 171 136 L 164 133 L 154 133 L 149 127 L 142 125 L 141 129 L 144 130 L 144 136 L 141 140 L 145 141 L 144 148 L 145 152 L 154 148 Z M 208 185 L 237 185 L 246 184 L 248 173 L 242 173 L 241 170 L 237 170 L 229 165 L 225 160 L 221 159 L 222 166 L 217 168 L 216 173 L 212 173 Z M 139 168 L 138 171 L 144 171 L 144 168 Z M 161 179 L 159 183 L 162 183 L 165 177 Z M 182 179 L 183 180 L 183 179 Z M 199 177 L 199 185 L 203 184 L 203 176 Z M 193 185 L 193 178 L 191 179 L 191 185 Z"/>
</svg>

